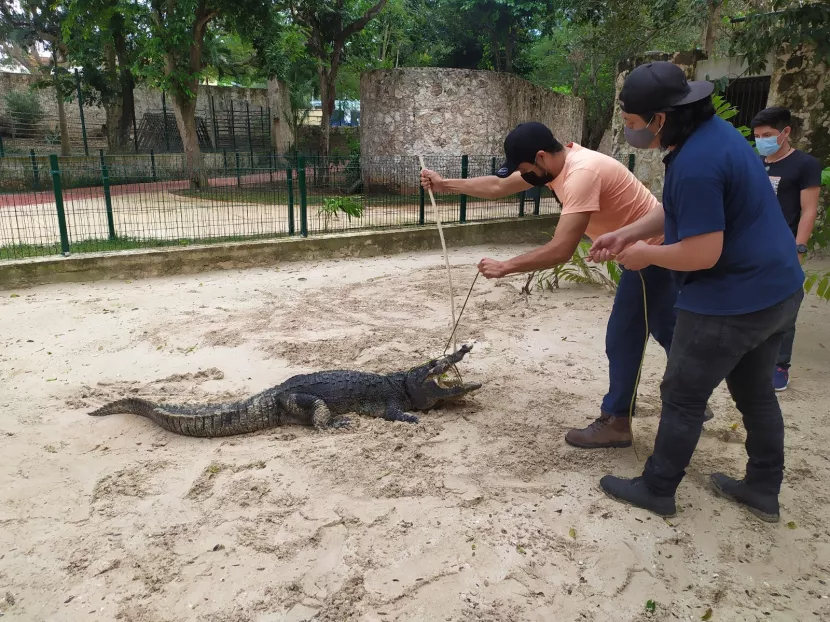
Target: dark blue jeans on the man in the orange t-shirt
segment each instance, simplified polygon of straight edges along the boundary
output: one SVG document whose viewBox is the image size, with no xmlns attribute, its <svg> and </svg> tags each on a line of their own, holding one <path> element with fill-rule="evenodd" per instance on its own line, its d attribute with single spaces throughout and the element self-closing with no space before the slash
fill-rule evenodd
<svg viewBox="0 0 830 622">
<path fill-rule="evenodd" d="M 649 332 L 668 353 L 677 320 L 677 285 L 665 268 L 649 266 L 640 272 L 646 283 Z M 643 284 L 636 271 L 623 270 L 605 333 L 610 384 L 603 413 L 628 417 L 645 339 Z"/>
</svg>

